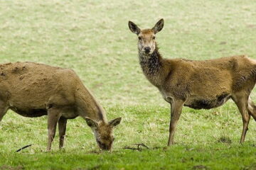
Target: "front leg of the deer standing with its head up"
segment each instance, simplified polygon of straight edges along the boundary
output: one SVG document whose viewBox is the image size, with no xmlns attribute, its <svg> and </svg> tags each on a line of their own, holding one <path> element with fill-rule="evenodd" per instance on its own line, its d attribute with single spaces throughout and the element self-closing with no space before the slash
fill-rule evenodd
<svg viewBox="0 0 256 170">
<path fill-rule="evenodd" d="M 181 101 L 181 100 L 173 101 L 171 103 L 171 122 L 169 127 L 168 146 L 174 144 L 174 133 L 176 130 L 176 125 L 178 123 L 178 119 L 180 118 L 180 115 L 181 115 L 183 104 L 184 104 L 184 101 Z"/>
</svg>

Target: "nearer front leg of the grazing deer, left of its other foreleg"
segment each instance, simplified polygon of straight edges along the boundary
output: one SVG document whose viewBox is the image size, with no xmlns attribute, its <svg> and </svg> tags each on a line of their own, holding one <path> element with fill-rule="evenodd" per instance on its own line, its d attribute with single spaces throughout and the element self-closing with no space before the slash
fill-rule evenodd
<svg viewBox="0 0 256 170">
<path fill-rule="evenodd" d="M 60 118 L 60 110 L 58 108 L 48 109 L 48 146 L 47 151 L 50 151 L 51 143 L 55 137 L 56 126 Z"/>
</svg>

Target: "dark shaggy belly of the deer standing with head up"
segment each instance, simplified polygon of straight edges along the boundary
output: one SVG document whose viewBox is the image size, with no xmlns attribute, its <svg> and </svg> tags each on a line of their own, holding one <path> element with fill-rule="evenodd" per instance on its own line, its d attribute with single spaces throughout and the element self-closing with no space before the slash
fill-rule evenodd
<svg viewBox="0 0 256 170">
<path fill-rule="evenodd" d="M 216 96 L 215 98 L 190 98 L 184 106 L 188 106 L 189 108 L 194 109 L 210 109 L 217 108 L 218 106 L 223 105 L 226 101 L 230 99 L 230 94 L 222 94 L 220 96 Z"/>
</svg>

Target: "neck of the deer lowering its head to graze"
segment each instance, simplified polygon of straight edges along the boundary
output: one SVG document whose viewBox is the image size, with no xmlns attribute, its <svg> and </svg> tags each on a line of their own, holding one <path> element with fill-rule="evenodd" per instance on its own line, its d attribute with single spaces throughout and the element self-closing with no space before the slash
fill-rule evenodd
<svg viewBox="0 0 256 170">
<path fill-rule="evenodd" d="M 83 86 L 83 85 L 82 85 Z M 85 117 L 91 118 L 92 120 L 102 121 L 107 123 L 107 116 L 104 109 L 100 106 L 95 98 L 90 94 L 85 86 L 77 90 L 76 101 L 78 114 L 85 119 Z"/>
</svg>

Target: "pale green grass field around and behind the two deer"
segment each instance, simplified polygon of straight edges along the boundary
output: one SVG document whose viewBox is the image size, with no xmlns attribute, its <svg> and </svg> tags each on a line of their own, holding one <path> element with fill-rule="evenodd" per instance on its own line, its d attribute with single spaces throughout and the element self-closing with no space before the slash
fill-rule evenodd
<svg viewBox="0 0 256 170">
<path fill-rule="evenodd" d="M 9 111 L 0 123 L 1 169 L 256 169 L 256 123 L 239 144 L 242 118 L 220 108 L 183 108 L 176 145 L 166 147 L 170 109 L 142 74 L 129 20 L 157 34 L 164 57 L 256 59 L 256 1 L 0 1 L 0 61 L 41 62 L 74 69 L 109 120 L 121 116 L 112 153 L 99 152 L 82 118 L 68 121 L 65 149 L 46 152 L 47 118 Z M 252 94 L 256 101 L 256 91 Z M 124 149 L 144 143 L 149 149 Z M 15 153 L 25 145 L 31 147 Z"/>
</svg>

